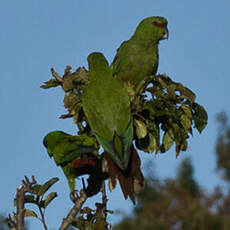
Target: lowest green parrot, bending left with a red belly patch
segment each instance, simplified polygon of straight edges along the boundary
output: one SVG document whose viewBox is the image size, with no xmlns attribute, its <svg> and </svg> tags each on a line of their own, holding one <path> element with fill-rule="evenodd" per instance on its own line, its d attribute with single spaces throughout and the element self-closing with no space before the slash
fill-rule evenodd
<svg viewBox="0 0 230 230">
<path fill-rule="evenodd" d="M 75 179 L 84 174 L 90 174 L 89 182 L 96 188 L 88 186 L 86 192 L 88 196 L 92 196 L 99 192 L 102 182 L 101 159 L 98 155 L 99 146 L 96 140 L 86 134 L 72 136 L 62 131 L 53 131 L 47 134 L 43 140 L 44 146 L 50 157 L 54 158 L 57 166 L 61 166 L 70 191 L 75 189 Z M 96 177 L 98 178 L 96 179 Z M 92 179 L 94 178 L 94 179 Z"/>
</svg>

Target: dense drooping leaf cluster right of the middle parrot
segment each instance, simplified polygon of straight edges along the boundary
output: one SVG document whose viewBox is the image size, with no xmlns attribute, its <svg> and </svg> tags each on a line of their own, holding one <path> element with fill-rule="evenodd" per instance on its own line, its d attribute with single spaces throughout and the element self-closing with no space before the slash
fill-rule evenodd
<svg viewBox="0 0 230 230">
<path fill-rule="evenodd" d="M 136 147 L 148 153 L 164 153 L 175 143 L 178 155 L 187 149 L 193 127 L 202 132 L 207 125 L 207 113 L 195 94 L 165 74 L 153 76 L 132 109 Z"/>
</svg>

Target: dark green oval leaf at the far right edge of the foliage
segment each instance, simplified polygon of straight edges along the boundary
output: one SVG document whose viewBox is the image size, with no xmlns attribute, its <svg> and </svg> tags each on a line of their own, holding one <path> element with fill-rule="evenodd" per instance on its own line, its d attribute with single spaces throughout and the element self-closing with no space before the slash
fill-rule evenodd
<svg viewBox="0 0 230 230">
<path fill-rule="evenodd" d="M 204 107 L 197 103 L 193 103 L 192 108 L 194 110 L 193 119 L 195 127 L 201 133 L 208 123 L 208 114 L 205 111 Z"/>
</svg>

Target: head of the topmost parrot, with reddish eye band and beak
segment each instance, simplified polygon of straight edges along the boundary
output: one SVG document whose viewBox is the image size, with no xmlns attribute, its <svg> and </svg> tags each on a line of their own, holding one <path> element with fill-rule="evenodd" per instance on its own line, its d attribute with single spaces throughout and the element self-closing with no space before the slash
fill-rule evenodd
<svg viewBox="0 0 230 230">
<path fill-rule="evenodd" d="M 168 39 L 168 21 L 163 17 L 148 17 L 143 19 L 138 25 L 134 36 L 139 39 L 143 37 L 153 40 L 153 42 L 159 42 L 163 39 Z"/>
</svg>

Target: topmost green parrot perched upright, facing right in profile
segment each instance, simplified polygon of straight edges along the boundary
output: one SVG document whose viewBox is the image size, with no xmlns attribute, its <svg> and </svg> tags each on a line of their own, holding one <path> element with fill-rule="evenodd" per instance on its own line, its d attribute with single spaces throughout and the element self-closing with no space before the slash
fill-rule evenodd
<svg viewBox="0 0 230 230">
<path fill-rule="evenodd" d="M 138 92 L 158 68 L 158 44 L 168 38 L 167 20 L 148 17 L 141 21 L 133 36 L 121 44 L 111 64 L 113 75 L 128 91 Z M 130 87 L 132 90 L 130 90 Z"/>
</svg>

